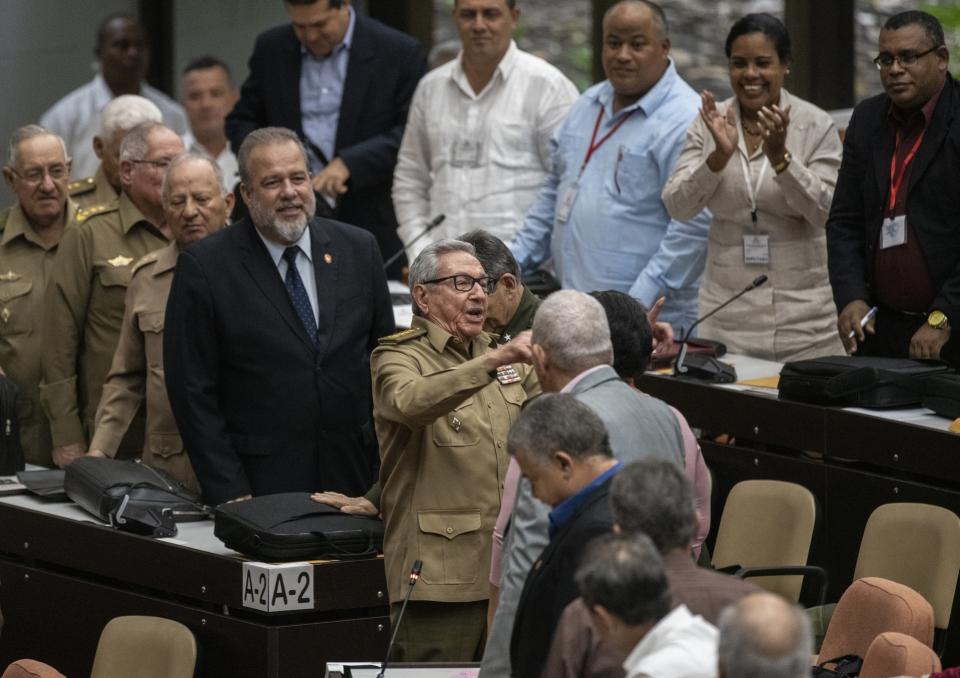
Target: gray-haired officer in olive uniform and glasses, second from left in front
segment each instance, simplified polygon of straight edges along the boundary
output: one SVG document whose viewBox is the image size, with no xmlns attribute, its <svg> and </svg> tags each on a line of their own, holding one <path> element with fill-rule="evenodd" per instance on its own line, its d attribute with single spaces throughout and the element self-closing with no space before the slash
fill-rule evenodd
<svg viewBox="0 0 960 678">
<path fill-rule="evenodd" d="M 120 149 L 123 193 L 71 229 L 46 291 L 41 398 L 50 418 L 53 461 L 87 450 L 103 382 L 120 337 L 133 263 L 168 243 L 160 187 L 183 142 L 159 123 L 133 128 Z M 121 458 L 143 449 L 143 419 L 127 431 Z"/>
</svg>

